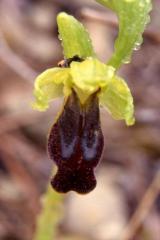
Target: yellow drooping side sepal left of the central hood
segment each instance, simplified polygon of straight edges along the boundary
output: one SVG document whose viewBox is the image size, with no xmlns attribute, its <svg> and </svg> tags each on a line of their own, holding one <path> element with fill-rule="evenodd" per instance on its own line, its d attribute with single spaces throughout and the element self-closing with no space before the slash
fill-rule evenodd
<svg viewBox="0 0 160 240">
<path fill-rule="evenodd" d="M 66 83 L 67 86 L 68 78 L 69 69 L 67 68 L 51 68 L 40 74 L 35 80 L 33 108 L 44 111 L 51 100 L 63 96 L 64 84 Z M 65 94 L 69 94 L 66 88 Z"/>
</svg>

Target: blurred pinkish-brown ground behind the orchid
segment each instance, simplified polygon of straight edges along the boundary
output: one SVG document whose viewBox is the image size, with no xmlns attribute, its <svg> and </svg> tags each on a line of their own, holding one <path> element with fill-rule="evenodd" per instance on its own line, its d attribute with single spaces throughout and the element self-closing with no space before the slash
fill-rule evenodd
<svg viewBox="0 0 160 240">
<path fill-rule="evenodd" d="M 93 0 L 0 0 L 0 240 L 33 239 L 53 167 L 46 138 L 63 100 L 44 113 L 30 103 L 35 76 L 63 59 L 56 25 L 61 11 L 85 24 L 106 61 L 117 18 Z M 159 0 L 140 50 L 119 74 L 132 90 L 136 124 L 126 127 L 101 109 L 105 147 L 97 187 L 84 196 L 67 193 L 55 205 L 55 240 L 160 239 Z"/>
</svg>

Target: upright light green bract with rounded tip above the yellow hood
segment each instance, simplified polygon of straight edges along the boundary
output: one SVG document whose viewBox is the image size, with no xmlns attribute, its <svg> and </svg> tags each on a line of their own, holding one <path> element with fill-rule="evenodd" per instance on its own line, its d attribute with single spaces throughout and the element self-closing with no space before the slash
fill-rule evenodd
<svg viewBox="0 0 160 240">
<path fill-rule="evenodd" d="M 60 13 L 57 17 L 60 40 L 65 58 L 95 56 L 92 42 L 84 26 L 73 16 Z"/>
</svg>

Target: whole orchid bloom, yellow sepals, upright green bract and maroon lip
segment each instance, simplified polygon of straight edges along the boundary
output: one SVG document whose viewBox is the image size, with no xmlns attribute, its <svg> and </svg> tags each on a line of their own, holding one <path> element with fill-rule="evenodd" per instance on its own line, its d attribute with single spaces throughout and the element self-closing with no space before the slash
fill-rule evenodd
<svg viewBox="0 0 160 240">
<path fill-rule="evenodd" d="M 108 3 L 111 8 L 116 5 L 114 0 L 103 0 L 103 3 Z M 119 9 L 122 10 L 120 6 Z M 65 60 L 36 78 L 33 107 L 44 111 L 52 100 L 64 97 L 64 105 L 48 137 L 48 153 L 58 167 L 51 184 L 62 193 L 70 190 L 88 193 L 96 186 L 94 169 L 104 144 L 99 106 L 103 106 L 114 119 L 125 120 L 129 126 L 135 121 L 133 98 L 125 80 L 116 74 L 123 62 L 123 54 L 115 61 L 113 57 L 106 65 L 98 60 L 89 34 L 78 20 L 60 13 L 57 23 Z M 142 27 L 137 31 L 142 32 Z M 130 40 L 128 48 L 126 46 L 128 54 L 134 45 Z M 122 42 L 123 39 L 120 47 Z M 114 56 L 119 51 L 117 45 Z"/>
</svg>

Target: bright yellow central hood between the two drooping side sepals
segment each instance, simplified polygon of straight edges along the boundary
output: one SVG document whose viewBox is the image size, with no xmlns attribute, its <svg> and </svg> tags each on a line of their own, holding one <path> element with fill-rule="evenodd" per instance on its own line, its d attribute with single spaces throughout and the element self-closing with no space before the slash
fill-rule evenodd
<svg viewBox="0 0 160 240">
<path fill-rule="evenodd" d="M 106 86 L 114 75 L 115 69 L 101 63 L 96 58 L 71 63 L 73 86 L 83 104 L 90 94 Z"/>
</svg>

